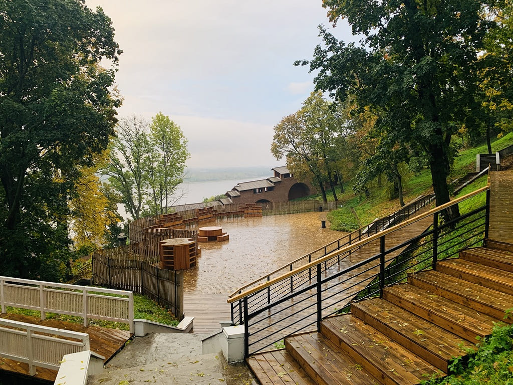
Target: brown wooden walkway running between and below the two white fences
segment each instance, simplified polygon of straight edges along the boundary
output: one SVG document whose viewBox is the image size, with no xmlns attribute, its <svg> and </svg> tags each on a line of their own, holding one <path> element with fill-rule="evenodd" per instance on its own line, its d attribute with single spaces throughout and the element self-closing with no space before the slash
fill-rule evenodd
<svg viewBox="0 0 513 385">
<path fill-rule="evenodd" d="M 84 326 L 81 323 L 64 322 L 53 319 L 41 320 L 34 317 L 28 317 L 20 314 L 2 314 L 2 318 L 12 319 L 14 321 L 33 323 L 50 328 L 71 330 L 74 332 L 89 334 L 89 344 L 92 352 L 105 357 L 105 362 L 110 360 L 119 352 L 125 343 L 131 338 L 130 333 L 125 330 L 100 328 L 98 326 Z M 19 375 L 29 376 L 29 367 L 27 363 L 17 362 L 11 359 L 0 357 L 0 377 L 4 371 L 17 373 Z M 57 371 L 37 368 L 35 378 L 52 383 L 55 381 Z"/>
</svg>

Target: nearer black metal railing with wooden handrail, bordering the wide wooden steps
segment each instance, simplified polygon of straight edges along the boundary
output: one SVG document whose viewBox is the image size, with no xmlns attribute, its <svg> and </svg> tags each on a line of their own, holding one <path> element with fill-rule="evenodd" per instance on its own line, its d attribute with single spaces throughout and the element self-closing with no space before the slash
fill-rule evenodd
<svg viewBox="0 0 513 385">
<path fill-rule="evenodd" d="M 451 221 L 441 220 L 442 210 L 467 199 L 479 199 L 480 194 L 486 194 L 484 205 Z M 429 217 L 432 225 L 424 233 L 389 246 L 389 238 L 398 229 Z M 229 299 L 236 323 L 245 328 L 246 356 L 287 335 L 319 330 L 324 317 L 348 311 L 350 302 L 382 296 L 385 286 L 404 282 L 408 273 L 434 268 L 437 261 L 455 257 L 461 249 L 482 244 L 488 223 L 486 186 Z M 379 244 L 377 254 L 346 268 L 329 269 L 338 258 L 370 242 Z"/>
</svg>

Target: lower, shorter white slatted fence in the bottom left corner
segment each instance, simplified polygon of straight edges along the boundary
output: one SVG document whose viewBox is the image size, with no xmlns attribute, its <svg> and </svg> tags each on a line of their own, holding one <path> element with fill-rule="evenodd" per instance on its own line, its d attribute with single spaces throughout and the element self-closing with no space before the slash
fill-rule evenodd
<svg viewBox="0 0 513 385">
<path fill-rule="evenodd" d="M 0 356 L 28 363 L 32 376 L 36 367 L 58 370 L 64 355 L 88 350 L 89 334 L 0 318 Z"/>
</svg>

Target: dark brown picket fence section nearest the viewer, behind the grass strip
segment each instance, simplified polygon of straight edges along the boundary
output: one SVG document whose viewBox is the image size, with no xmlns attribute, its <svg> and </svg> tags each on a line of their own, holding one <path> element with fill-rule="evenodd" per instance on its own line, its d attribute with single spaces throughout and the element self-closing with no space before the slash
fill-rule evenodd
<svg viewBox="0 0 513 385">
<path fill-rule="evenodd" d="M 100 253 L 92 255 L 93 283 L 99 286 L 144 294 L 184 318 L 184 276 L 135 259 L 114 259 Z"/>
</svg>

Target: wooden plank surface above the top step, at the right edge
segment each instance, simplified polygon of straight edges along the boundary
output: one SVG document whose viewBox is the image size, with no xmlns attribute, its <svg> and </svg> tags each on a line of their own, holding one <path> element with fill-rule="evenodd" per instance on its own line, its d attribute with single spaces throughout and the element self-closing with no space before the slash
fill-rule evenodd
<svg viewBox="0 0 513 385">
<path fill-rule="evenodd" d="M 513 243 L 513 169 L 490 172 L 490 229 L 488 237 Z"/>
</svg>

